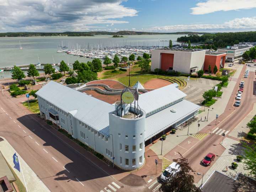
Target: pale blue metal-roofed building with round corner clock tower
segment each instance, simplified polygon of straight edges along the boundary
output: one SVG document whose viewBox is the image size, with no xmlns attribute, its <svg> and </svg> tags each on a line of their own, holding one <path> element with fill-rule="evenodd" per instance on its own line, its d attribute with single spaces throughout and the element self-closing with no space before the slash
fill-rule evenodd
<svg viewBox="0 0 256 192">
<path fill-rule="evenodd" d="M 141 167 L 145 145 L 196 116 L 200 108 L 184 99 L 177 84 L 144 94 L 126 87 L 112 105 L 54 81 L 36 95 L 41 116 L 123 170 Z"/>
</svg>

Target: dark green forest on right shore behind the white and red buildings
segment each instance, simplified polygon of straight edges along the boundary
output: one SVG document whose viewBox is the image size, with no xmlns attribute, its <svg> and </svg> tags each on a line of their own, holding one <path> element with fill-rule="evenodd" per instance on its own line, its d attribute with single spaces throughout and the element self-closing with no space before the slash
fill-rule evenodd
<svg viewBox="0 0 256 192">
<path fill-rule="evenodd" d="M 216 48 L 233 46 L 239 42 L 256 42 L 256 31 L 230 32 L 230 33 L 207 33 L 202 36 L 191 34 L 177 38 L 178 42 L 202 43 L 213 45 Z"/>
</svg>

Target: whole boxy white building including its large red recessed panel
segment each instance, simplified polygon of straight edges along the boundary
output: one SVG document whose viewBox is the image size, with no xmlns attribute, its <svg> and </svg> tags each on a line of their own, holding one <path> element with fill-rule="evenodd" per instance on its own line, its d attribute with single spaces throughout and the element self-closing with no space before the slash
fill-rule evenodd
<svg viewBox="0 0 256 192">
<path fill-rule="evenodd" d="M 151 71 L 175 70 L 181 73 L 196 73 L 203 69 L 205 49 L 160 48 L 151 51 Z"/>
</svg>

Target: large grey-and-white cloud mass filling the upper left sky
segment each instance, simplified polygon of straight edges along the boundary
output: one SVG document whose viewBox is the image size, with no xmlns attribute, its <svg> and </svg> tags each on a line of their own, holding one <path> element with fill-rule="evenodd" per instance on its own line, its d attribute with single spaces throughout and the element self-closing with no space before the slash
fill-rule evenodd
<svg viewBox="0 0 256 192">
<path fill-rule="evenodd" d="M 85 31 L 91 25 L 128 23 L 138 11 L 123 0 L 0 0 L 0 31 Z"/>
</svg>

